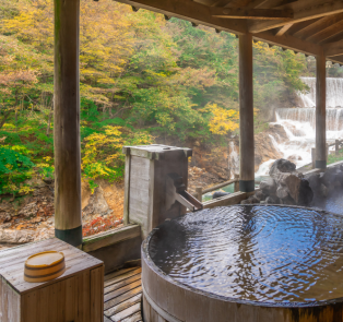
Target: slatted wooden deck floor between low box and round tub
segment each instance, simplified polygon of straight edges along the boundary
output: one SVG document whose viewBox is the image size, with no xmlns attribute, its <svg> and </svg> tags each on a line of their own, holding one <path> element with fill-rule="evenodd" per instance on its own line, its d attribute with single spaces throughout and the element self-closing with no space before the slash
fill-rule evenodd
<svg viewBox="0 0 343 322">
<path fill-rule="evenodd" d="M 125 269 L 105 276 L 105 322 L 142 321 L 141 270 L 141 267 Z"/>
</svg>

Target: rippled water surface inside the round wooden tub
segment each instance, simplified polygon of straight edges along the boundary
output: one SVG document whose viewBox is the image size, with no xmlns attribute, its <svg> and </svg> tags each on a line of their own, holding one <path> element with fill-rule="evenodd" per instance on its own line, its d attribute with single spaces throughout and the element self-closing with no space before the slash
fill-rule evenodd
<svg viewBox="0 0 343 322">
<path fill-rule="evenodd" d="M 343 297 L 343 217 L 320 211 L 246 205 L 190 213 L 161 226 L 150 254 L 174 279 L 220 296 Z"/>
</svg>

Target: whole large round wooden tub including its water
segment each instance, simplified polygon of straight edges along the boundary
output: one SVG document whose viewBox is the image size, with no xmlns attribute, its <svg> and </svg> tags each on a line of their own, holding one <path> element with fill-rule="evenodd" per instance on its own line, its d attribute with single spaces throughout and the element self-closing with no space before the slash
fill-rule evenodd
<svg viewBox="0 0 343 322">
<path fill-rule="evenodd" d="M 342 267 L 339 215 L 279 205 L 190 213 L 142 245 L 144 321 L 343 321 Z"/>
</svg>

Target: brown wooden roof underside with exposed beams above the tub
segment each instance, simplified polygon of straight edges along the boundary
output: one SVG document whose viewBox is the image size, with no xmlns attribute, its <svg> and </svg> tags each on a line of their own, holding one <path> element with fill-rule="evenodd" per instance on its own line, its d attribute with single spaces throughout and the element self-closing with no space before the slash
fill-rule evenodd
<svg viewBox="0 0 343 322">
<path fill-rule="evenodd" d="M 343 64 L 343 1 L 118 0 Z"/>
</svg>

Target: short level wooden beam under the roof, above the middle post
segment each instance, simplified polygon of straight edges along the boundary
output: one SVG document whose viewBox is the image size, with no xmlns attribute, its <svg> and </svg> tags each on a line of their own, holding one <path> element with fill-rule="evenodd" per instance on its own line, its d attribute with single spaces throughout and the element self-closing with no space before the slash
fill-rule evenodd
<svg viewBox="0 0 343 322">
<path fill-rule="evenodd" d="M 283 20 L 293 19 L 292 10 L 273 9 L 245 9 L 245 8 L 212 8 L 211 13 L 224 19 L 252 19 L 252 20 Z"/>
</svg>

